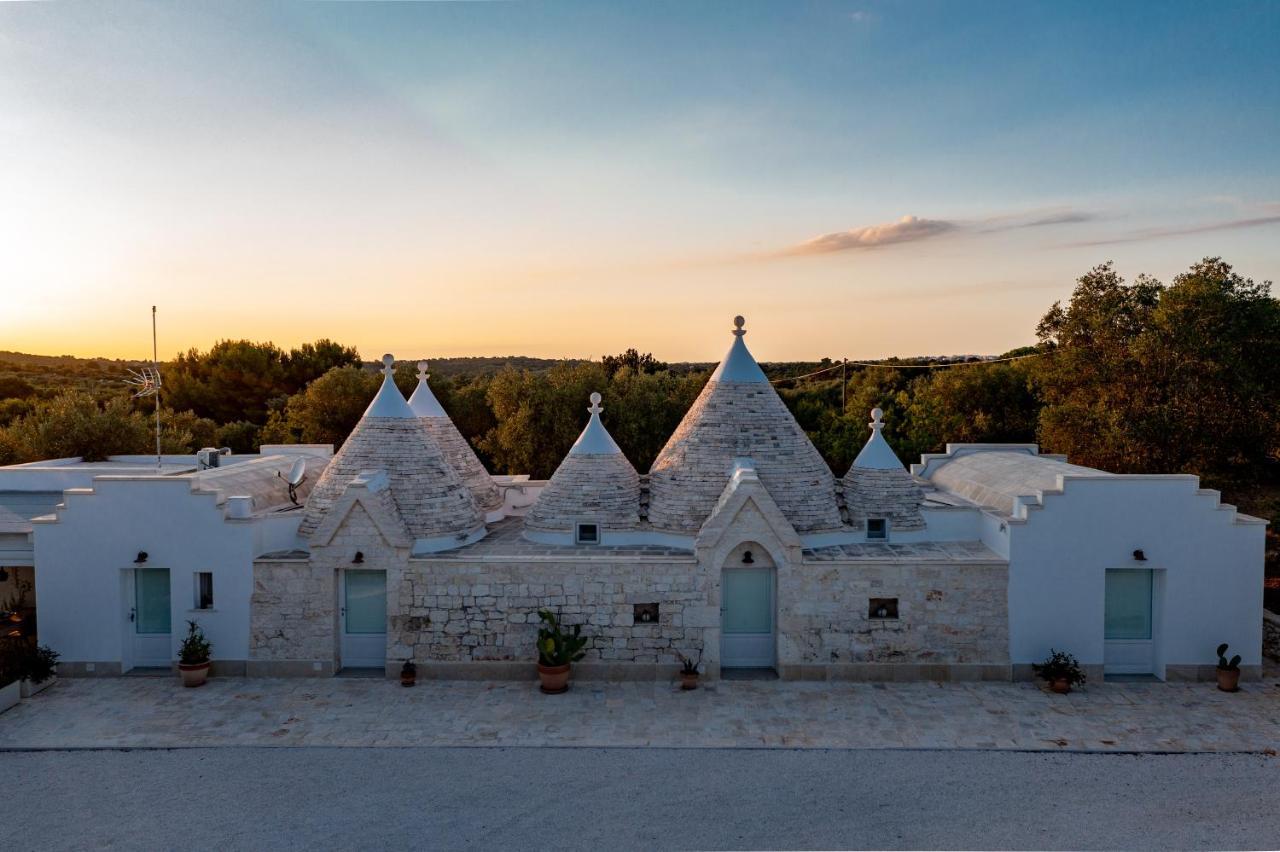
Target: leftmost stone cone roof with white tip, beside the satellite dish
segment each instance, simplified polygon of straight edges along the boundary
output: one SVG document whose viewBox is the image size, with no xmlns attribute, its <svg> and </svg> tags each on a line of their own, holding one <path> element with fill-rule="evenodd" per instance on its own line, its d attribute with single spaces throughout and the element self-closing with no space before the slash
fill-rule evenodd
<svg viewBox="0 0 1280 852">
<path fill-rule="evenodd" d="M 303 537 L 320 527 L 351 481 L 369 471 L 387 473 L 413 539 L 465 537 L 484 528 L 471 491 L 396 388 L 394 363 L 383 356 L 383 386 L 311 490 L 298 527 Z"/>
</svg>

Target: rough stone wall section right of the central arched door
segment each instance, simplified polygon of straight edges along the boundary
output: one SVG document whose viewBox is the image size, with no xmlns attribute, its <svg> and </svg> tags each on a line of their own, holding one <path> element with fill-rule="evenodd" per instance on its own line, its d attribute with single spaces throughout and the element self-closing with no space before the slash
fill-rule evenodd
<svg viewBox="0 0 1280 852">
<path fill-rule="evenodd" d="M 1004 564 L 805 564 L 778 581 L 778 652 L 792 663 L 1009 663 Z M 869 617 L 896 597 L 897 619 Z"/>
</svg>

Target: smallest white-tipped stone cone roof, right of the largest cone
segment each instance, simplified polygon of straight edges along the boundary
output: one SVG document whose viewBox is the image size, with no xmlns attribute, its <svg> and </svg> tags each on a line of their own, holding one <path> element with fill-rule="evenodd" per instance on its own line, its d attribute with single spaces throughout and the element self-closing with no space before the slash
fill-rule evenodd
<svg viewBox="0 0 1280 852">
<path fill-rule="evenodd" d="M 886 518 L 891 531 L 923 530 L 924 493 L 884 440 L 883 417 L 879 408 L 872 409 L 872 436 L 841 484 L 849 522 L 863 527 L 867 518 Z"/>
</svg>

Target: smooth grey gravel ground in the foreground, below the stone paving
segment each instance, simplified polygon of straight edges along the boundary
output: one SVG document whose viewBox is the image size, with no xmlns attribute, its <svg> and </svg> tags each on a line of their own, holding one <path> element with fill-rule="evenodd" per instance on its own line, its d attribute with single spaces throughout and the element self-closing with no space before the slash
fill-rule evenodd
<svg viewBox="0 0 1280 852">
<path fill-rule="evenodd" d="M 1258 755 L 188 748 L 0 775 L 15 851 L 1280 846 Z"/>
</svg>

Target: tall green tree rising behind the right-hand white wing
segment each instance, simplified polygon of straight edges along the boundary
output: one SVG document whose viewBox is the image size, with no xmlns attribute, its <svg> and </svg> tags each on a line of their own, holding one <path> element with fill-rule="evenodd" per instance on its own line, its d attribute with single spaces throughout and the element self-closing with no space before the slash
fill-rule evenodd
<svg viewBox="0 0 1280 852">
<path fill-rule="evenodd" d="M 1206 258 L 1170 287 L 1080 278 L 1037 333 L 1041 443 L 1115 471 L 1230 473 L 1276 453 L 1280 304 Z"/>
</svg>

